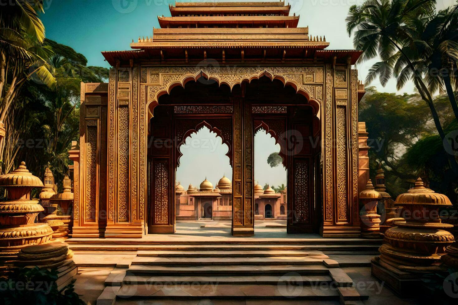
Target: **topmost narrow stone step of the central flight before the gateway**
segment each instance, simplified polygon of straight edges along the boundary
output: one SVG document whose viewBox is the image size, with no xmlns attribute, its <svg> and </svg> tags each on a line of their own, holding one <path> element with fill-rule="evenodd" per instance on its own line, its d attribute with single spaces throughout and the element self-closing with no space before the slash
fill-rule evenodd
<svg viewBox="0 0 458 305">
<path fill-rule="evenodd" d="M 227 250 L 227 251 L 137 251 L 139 257 L 315 257 L 327 258 L 321 251 L 247 251 L 247 250 Z"/>
</svg>

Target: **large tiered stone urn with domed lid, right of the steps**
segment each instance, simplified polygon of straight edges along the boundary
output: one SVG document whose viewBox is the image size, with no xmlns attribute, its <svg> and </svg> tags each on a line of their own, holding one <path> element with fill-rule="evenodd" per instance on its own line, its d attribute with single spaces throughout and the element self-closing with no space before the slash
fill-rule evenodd
<svg viewBox="0 0 458 305">
<path fill-rule="evenodd" d="M 446 272 L 441 257 L 454 237 L 438 217 L 440 206 L 452 205 L 447 196 L 425 188 L 419 178 L 415 187 L 396 199 L 403 206 L 403 221 L 385 232 L 380 257 L 372 260 L 372 275 L 386 281 L 398 294 L 414 294 L 415 283 L 426 274 Z"/>
</svg>

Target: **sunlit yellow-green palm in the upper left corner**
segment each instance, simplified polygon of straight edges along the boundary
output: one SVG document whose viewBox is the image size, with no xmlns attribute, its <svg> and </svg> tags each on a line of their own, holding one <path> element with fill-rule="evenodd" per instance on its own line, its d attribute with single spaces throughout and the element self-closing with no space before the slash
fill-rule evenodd
<svg viewBox="0 0 458 305">
<path fill-rule="evenodd" d="M 0 10 L 0 123 L 27 79 L 34 76 L 55 87 L 48 70 L 51 48 L 43 46 L 44 26 L 38 18 L 42 0 L 12 0 Z"/>
</svg>

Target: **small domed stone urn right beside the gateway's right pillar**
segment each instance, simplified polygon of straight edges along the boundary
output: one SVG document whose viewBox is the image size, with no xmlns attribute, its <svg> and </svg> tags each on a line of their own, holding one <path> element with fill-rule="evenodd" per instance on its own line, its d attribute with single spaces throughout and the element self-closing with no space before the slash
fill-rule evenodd
<svg viewBox="0 0 458 305">
<path fill-rule="evenodd" d="M 380 215 L 376 211 L 380 200 L 382 200 L 382 195 L 374 189 L 372 181 L 369 179 L 365 189 L 360 193 L 362 238 L 380 238 Z"/>
</svg>

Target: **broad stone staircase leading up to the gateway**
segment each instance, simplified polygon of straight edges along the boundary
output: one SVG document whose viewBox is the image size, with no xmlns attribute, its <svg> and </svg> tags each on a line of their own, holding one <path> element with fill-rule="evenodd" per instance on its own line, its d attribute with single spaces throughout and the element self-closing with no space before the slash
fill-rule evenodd
<svg viewBox="0 0 458 305">
<path fill-rule="evenodd" d="M 111 247 L 114 245 L 94 245 L 71 244 L 71 249 L 76 253 L 120 251 L 119 247 Z M 136 249 L 131 250 L 136 251 L 136 257 L 125 266 L 128 268 L 114 268 L 105 280 L 107 287 L 97 304 L 114 301 L 116 304 L 129 301 L 184 304 L 201 300 L 225 300 L 230 304 L 245 304 L 248 300 L 361 304 L 364 297 L 354 288 L 352 279 L 339 262 L 330 258 L 333 255 L 325 252 L 337 253 L 339 257 L 348 255 L 353 257 L 352 261 L 358 261 L 355 256 L 373 257 L 371 252 L 378 246 L 371 241 L 354 245 L 348 242 L 139 245 L 137 242 L 127 245 Z M 125 247 L 121 248 L 125 251 Z"/>
</svg>

